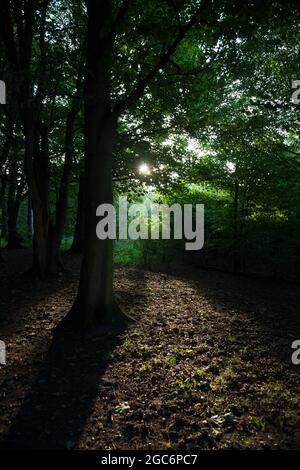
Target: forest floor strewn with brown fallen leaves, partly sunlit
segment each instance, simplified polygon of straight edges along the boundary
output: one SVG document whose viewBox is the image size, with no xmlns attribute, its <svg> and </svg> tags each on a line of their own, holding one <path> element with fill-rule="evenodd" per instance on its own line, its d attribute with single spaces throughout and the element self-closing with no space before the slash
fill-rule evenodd
<svg viewBox="0 0 300 470">
<path fill-rule="evenodd" d="M 80 259 L 39 282 L 30 253 L 0 266 L 0 446 L 300 448 L 299 288 L 200 269 L 119 267 L 126 330 L 56 329 Z"/>
</svg>

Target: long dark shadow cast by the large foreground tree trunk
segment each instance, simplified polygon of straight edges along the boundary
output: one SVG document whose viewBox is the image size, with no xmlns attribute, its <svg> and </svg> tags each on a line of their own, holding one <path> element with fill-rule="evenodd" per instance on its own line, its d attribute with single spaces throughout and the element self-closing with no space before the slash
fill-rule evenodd
<svg viewBox="0 0 300 470">
<path fill-rule="evenodd" d="M 8 449 L 76 447 L 123 328 L 57 329 L 7 438 Z"/>
</svg>

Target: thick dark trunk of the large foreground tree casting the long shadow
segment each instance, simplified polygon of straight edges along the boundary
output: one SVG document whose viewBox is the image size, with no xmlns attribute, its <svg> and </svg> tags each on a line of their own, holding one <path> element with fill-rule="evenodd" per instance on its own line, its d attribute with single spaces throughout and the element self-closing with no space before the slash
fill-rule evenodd
<svg viewBox="0 0 300 470">
<path fill-rule="evenodd" d="M 112 154 L 117 119 L 111 111 L 113 47 L 112 2 L 88 2 L 85 108 L 85 243 L 80 283 L 70 317 L 76 323 L 113 323 L 120 311 L 113 301 L 112 240 L 96 236 L 96 209 L 113 202 Z"/>
</svg>

